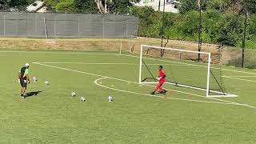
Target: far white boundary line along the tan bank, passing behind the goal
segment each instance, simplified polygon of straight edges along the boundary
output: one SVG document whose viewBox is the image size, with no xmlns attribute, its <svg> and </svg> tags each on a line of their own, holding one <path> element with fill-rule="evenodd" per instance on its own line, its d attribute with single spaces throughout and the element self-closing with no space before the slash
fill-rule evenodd
<svg viewBox="0 0 256 144">
<path fill-rule="evenodd" d="M 99 51 L 96 51 L 99 52 Z M 104 53 L 94 53 L 93 51 L 91 52 L 57 52 L 57 51 L 19 51 L 19 50 L 10 50 L 10 51 L 1 51 L 0 53 L 32 53 L 32 54 L 91 54 L 91 55 L 121 55 L 121 56 L 127 56 L 127 57 L 134 57 L 134 58 L 139 58 L 138 56 L 135 55 L 129 55 L 129 54 L 104 54 Z M 156 60 L 155 58 L 148 58 L 148 59 L 152 59 L 152 60 Z M 166 60 L 162 60 L 162 59 L 158 59 L 158 61 L 162 61 L 162 62 L 171 62 L 171 61 L 166 61 Z M 179 63 L 182 65 L 188 65 L 188 66 L 198 66 L 198 65 L 194 65 L 194 64 L 189 64 L 189 63 L 184 63 L 184 62 L 174 62 L 174 63 Z M 207 66 L 202 66 L 202 67 L 207 67 Z M 218 69 L 218 68 L 214 68 L 211 67 L 211 69 Z M 226 71 L 233 71 L 233 72 L 237 72 L 237 73 L 242 73 L 242 74 L 254 74 L 256 75 L 256 73 L 250 73 L 250 72 L 246 72 L 246 71 L 239 71 L 239 70 L 229 70 L 229 69 L 222 69 L 222 70 L 226 70 Z"/>
</svg>

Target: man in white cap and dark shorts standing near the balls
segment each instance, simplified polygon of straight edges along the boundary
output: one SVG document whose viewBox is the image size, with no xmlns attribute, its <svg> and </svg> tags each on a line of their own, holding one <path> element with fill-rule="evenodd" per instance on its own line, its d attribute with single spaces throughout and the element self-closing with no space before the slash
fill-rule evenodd
<svg viewBox="0 0 256 144">
<path fill-rule="evenodd" d="M 18 82 L 20 82 L 22 86 L 21 98 L 26 98 L 26 94 L 25 94 L 26 86 L 28 83 L 30 83 L 29 68 L 30 68 L 30 65 L 26 63 L 26 65 L 23 66 L 18 73 Z"/>
</svg>

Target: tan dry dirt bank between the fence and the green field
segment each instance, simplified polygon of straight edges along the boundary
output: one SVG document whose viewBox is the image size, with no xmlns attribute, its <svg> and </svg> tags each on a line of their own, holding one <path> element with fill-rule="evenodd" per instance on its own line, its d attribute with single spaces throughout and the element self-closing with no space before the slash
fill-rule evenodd
<svg viewBox="0 0 256 144">
<path fill-rule="evenodd" d="M 166 40 L 164 40 L 164 43 Z M 7 50 L 108 50 L 139 53 L 141 45 L 161 46 L 158 38 L 0 38 L 0 49 Z M 197 42 L 170 40 L 166 47 L 198 50 Z M 218 55 L 218 45 L 202 44 L 202 51 Z M 190 57 L 192 59 L 194 56 Z M 203 58 L 207 59 L 207 58 Z"/>
</svg>

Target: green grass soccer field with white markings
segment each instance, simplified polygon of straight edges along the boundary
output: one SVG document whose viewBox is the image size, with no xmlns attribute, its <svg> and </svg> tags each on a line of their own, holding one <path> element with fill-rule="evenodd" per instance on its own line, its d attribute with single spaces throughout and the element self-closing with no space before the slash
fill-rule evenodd
<svg viewBox="0 0 256 144">
<path fill-rule="evenodd" d="M 206 98 L 168 84 L 166 95 L 151 95 L 154 85 L 138 84 L 132 54 L 22 50 L 0 57 L 0 143 L 256 142 L 255 70 L 224 66 L 225 86 L 238 97 Z M 30 79 L 38 78 L 27 92 L 38 94 L 22 99 L 18 70 L 26 62 Z"/>
</svg>

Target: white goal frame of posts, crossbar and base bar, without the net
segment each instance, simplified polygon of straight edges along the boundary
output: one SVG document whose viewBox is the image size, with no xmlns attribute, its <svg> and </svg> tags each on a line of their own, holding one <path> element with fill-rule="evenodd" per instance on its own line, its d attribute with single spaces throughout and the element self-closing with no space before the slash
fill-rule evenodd
<svg viewBox="0 0 256 144">
<path fill-rule="evenodd" d="M 140 50 L 140 63 L 139 63 L 139 76 L 138 76 L 138 83 L 140 84 L 156 84 L 158 82 L 142 82 L 142 58 L 143 58 L 143 47 L 150 47 L 158 50 L 173 50 L 173 51 L 180 51 L 180 52 L 189 52 L 189 53 L 194 53 L 194 54 L 206 54 L 208 57 L 208 62 L 207 62 L 207 81 L 206 81 L 206 89 L 194 87 L 194 86 L 186 86 L 182 84 L 176 84 L 172 82 L 166 82 L 175 86 L 182 86 L 182 87 L 188 87 L 196 90 L 205 90 L 206 91 L 206 97 L 207 98 L 218 98 L 218 97 L 237 97 L 237 95 L 234 94 L 227 94 L 227 93 L 222 93 L 218 91 L 213 91 L 210 90 L 210 62 L 211 62 L 211 53 L 210 52 L 202 52 L 202 51 L 193 51 L 193 50 L 179 50 L 179 49 L 174 49 L 174 48 L 166 48 L 166 47 L 160 47 L 160 46 L 147 46 L 147 45 L 141 45 L 141 50 Z M 152 58 L 154 59 L 154 58 Z M 216 94 L 219 95 L 210 95 L 210 91 L 213 91 Z"/>
</svg>

